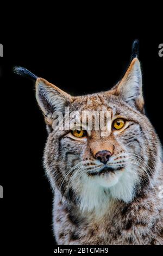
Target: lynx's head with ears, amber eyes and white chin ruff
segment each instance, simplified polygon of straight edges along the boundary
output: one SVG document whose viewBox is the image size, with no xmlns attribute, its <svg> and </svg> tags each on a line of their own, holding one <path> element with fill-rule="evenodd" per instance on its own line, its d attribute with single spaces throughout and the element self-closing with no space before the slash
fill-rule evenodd
<svg viewBox="0 0 163 256">
<path fill-rule="evenodd" d="M 37 78 L 36 98 L 49 132 L 44 163 L 53 188 L 81 210 L 99 210 L 106 201 L 130 202 L 151 182 L 159 161 L 159 143 L 143 113 L 142 80 L 137 58 L 110 91 L 70 96 Z M 53 129 L 53 112 L 110 111 L 109 135 L 91 131 Z M 153 143 L 154 141 L 154 143 Z"/>
</svg>

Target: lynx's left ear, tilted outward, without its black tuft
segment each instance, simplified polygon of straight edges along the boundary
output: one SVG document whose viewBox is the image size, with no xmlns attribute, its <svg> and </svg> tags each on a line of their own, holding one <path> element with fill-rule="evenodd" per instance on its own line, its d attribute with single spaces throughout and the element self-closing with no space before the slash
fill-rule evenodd
<svg viewBox="0 0 163 256">
<path fill-rule="evenodd" d="M 72 97 L 43 78 L 36 80 L 36 99 L 45 115 L 46 124 L 52 125 L 53 112 L 64 111 Z"/>
</svg>

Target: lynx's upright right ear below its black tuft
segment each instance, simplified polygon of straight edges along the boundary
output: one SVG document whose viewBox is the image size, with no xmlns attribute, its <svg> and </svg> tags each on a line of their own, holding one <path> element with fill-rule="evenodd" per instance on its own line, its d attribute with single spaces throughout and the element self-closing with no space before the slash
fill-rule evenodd
<svg viewBox="0 0 163 256">
<path fill-rule="evenodd" d="M 140 62 L 137 58 L 131 61 L 126 74 L 116 88 L 115 94 L 132 107 L 143 111 L 142 75 Z"/>
</svg>

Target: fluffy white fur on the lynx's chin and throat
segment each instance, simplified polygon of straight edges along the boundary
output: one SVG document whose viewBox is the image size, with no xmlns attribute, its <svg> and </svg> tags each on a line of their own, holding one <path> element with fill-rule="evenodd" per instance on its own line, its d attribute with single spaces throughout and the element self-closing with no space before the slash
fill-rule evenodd
<svg viewBox="0 0 163 256">
<path fill-rule="evenodd" d="M 87 176 L 76 180 L 74 186 L 80 194 L 80 210 L 95 211 L 103 214 L 112 200 L 130 202 L 134 197 L 134 187 L 139 183 L 135 170 L 125 168 L 115 173 Z"/>
</svg>

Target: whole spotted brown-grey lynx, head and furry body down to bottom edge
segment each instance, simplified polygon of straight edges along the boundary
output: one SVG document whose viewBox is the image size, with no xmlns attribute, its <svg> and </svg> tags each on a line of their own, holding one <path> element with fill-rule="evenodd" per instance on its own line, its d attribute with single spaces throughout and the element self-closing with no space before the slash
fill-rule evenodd
<svg viewBox="0 0 163 256">
<path fill-rule="evenodd" d="M 111 90 L 92 95 L 70 96 L 37 78 L 36 99 L 48 129 L 44 164 L 54 191 L 58 245 L 162 245 L 162 152 L 143 110 L 139 60 L 133 58 Z M 107 137 L 92 130 L 76 138 L 53 130 L 53 112 L 65 106 L 70 112 L 105 106 L 112 124 L 117 118 L 125 124 L 111 126 Z"/>
</svg>

